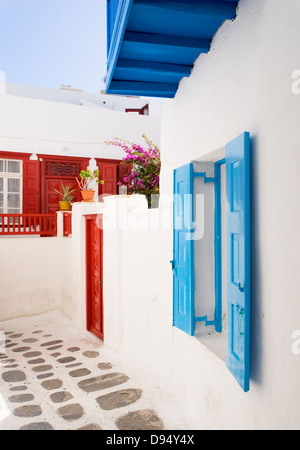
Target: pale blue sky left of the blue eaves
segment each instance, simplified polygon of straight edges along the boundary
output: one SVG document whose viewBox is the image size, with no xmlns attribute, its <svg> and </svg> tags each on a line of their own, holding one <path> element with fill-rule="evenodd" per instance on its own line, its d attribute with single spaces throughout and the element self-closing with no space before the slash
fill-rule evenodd
<svg viewBox="0 0 300 450">
<path fill-rule="evenodd" d="M 0 70 L 10 83 L 99 92 L 106 0 L 0 0 Z"/>
</svg>

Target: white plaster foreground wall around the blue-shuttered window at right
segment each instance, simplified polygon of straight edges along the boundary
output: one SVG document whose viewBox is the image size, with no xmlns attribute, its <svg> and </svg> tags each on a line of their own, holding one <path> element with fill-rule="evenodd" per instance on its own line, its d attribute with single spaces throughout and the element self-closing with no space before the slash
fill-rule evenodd
<svg viewBox="0 0 300 450">
<path fill-rule="evenodd" d="M 173 168 L 244 131 L 252 136 L 251 387 L 242 393 L 199 345 L 188 361 L 187 399 L 208 428 L 299 427 L 300 359 L 291 350 L 300 328 L 300 96 L 292 93 L 299 20 L 296 0 L 241 0 L 237 19 L 198 58 L 163 118 L 164 193 Z M 180 339 L 190 358 L 196 343 Z"/>
</svg>

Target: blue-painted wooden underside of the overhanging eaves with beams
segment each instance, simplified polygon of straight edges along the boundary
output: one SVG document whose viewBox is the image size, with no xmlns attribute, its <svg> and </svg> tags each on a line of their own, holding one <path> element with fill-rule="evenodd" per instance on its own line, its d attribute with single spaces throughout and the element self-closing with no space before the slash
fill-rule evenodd
<svg viewBox="0 0 300 450">
<path fill-rule="evenodd" d="M 238 0 L 107 0 L 108 94 L 172 98 Z"/>
</svg>

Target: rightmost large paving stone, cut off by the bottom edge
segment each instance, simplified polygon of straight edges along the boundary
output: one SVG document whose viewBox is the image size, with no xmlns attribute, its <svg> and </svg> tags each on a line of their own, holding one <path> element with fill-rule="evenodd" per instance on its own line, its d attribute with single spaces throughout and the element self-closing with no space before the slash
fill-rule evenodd
<svg viewBox="0 0 300 450">
<path fill-rule="evenodd" d="M 119 430 L 163 430 L 162 420 L 151 409 L 129 412 L 116 420 Z"/>
</svg>

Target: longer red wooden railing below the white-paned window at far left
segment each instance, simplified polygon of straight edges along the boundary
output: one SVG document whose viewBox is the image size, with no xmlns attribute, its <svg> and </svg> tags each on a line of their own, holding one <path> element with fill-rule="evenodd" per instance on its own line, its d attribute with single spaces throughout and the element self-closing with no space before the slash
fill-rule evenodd
<svg viewBox="0 0 300 450">
<path fill-rule="evenodd" d="M 0 214 L 0 236 L 57 235 L 56 214 Z"/>
</svg>

